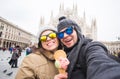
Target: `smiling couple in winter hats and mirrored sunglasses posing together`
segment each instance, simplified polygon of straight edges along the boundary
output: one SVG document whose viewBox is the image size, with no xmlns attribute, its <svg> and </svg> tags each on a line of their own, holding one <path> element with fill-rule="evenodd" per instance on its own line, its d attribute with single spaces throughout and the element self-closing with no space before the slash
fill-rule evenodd
<svg viewBox="0 0 120 79">
<path fill-rule="evenodd" d="M 76 22 L 65 17 L 59 20 L 57 30 L 40 29 L 38 48 L 24 58 L 15 79 L 120 78 L 120 64 L 108 56 L 102 43 L 84 37 Z M 64 49 L 70 61 L 66 74 L 59 74 L 54 65 L 58 49 Z"/>
</svg>

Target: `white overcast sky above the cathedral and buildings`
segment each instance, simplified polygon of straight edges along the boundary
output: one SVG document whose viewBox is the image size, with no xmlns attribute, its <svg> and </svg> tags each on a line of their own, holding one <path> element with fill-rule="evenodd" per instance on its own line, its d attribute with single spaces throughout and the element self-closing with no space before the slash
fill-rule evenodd
<svg viewBox="0 0 120 79">
<path fill-rule="evenodd" d="M 40 17 L 48 23 L 51 11 L 56 16 L 61 3 L 65 9 L 77 4 L 78 15 L 85 11 L 88 24 L 96 18 L 98 40 L 114 41 L 120 36 L 120 0 L 0 0 L 0 16 L 37 35 Z"/>
</svg>

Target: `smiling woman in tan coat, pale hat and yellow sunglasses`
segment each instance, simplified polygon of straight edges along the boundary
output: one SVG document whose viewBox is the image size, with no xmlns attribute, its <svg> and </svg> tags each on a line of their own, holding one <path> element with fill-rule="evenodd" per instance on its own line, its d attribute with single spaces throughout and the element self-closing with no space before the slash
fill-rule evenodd
<svg viewBox="0 0 120 79">
<path fill-rule="evenodd" d="M 58 74 L 53 54 L 61 48 L 56 28 L 42 27 L 38 48 L 23 59 L 15 79 L 53 79 Z"/>
</svg>

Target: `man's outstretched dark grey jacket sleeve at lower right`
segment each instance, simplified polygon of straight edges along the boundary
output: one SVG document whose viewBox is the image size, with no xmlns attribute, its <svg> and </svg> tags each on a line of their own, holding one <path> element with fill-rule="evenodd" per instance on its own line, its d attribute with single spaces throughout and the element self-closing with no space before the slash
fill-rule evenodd
<svg viewBox="0 0 120 79">
<path fill-rule="evenodd" d="M 86 51 L 87 79 L 120 79 L 120 63 L 108 57 L 102 46 Z"/>
</svg>

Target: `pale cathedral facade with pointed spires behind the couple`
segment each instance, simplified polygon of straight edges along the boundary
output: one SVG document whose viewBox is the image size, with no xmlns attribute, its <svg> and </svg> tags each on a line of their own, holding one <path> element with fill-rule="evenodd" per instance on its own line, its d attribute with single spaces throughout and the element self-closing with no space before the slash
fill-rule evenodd
<svg viewBox="0 0 120 79">
<path fill-rule="evenodd" d="M 91 24 L 88 25 L 86 22 L 86 15 L 85 12 L 83 13 L 83 16 L 78 16 L 78 9 L 77 5 L 73 5 L 72 9 L 65 9 L 64 5 L 60 5 L 59 7 L 59 13 L 57 16 L 53 16 L 53 12 L 51 12 L 50 21 L 48 24 L 44 23 L 44 17 L 41 17 L 40 19 L 40 27 L 44 25 L 50 25 L 50 26 L 57 26 L 59 22 L 59 17 L 65 16 L 69 19 L 74 20 L 81 28 L 82 33 L 89 38 L 92 38 L 93 40 L 97 40 L 97 26 L 96 26 L 96 19 L 93 19 L 91 21 Z M 39 28 L 40 29 L 40 28 Z"/>
</svg>

